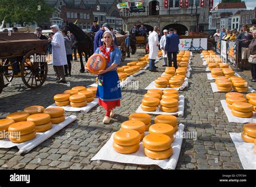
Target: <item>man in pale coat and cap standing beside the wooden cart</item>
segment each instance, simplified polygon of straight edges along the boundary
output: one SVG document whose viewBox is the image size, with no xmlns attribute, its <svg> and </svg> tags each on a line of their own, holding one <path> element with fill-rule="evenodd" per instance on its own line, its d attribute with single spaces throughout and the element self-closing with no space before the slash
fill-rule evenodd
<svg viewBox="0 0 256 187">
<path fill-rule="evenodd" d="M 52 39 L 49 38 L 48 40 L 52 45 L 52 63 L 57 74 L 56 82 L 66 83 L 64 65 L 68 64 L 68 62 L 66 60 L 64 37 L 59 31 L 58 25 L 52 25 L 50 27 L 54 35 Z"/>
</svg>

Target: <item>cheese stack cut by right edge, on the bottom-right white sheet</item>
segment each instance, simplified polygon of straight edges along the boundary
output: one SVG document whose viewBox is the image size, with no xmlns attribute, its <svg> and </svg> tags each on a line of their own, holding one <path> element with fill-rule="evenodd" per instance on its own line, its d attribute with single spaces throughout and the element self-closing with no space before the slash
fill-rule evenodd
<svg viewBox="0 0 256 187">
<path fill-rule="evenodd" d="M 256 124 L 245 124 L 242 131 L 242 139 L 247 143 L 255 143 L 256 140 Z"/>
</svg>

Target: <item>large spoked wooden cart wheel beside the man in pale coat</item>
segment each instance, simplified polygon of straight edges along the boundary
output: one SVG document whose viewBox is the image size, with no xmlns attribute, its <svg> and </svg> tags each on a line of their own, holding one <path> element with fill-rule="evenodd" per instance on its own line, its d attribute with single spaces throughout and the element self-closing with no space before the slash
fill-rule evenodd
<svg viewBox="0 0 256 187">
<path fill-rule="evenodd" d="M 21 77 L 26 87 L 35 89 L 41 87 L 48 73 L 48 64 L 45 59 L 45 55 L 40 55 L 33 59 L 33 56 L 37 56 L 35 51 L 27 53 L 21 64 Z"/>
</svg>

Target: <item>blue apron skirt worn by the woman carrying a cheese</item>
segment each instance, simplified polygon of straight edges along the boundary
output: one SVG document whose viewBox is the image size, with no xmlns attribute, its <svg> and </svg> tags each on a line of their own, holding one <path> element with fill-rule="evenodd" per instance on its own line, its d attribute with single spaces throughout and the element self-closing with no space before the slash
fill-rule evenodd
<svg viewBox="0 0 256 187">
<path fill-rule="evenodd" d="M 119 100 L 122 98 L 120 81 L 116 70 L 98 75 L 96 96 L 106 101 Z"/>
</svg>

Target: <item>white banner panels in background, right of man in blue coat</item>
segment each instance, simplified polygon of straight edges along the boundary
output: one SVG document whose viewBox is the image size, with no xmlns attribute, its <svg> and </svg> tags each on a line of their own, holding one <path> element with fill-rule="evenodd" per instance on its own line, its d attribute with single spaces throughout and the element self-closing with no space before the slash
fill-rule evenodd
<svg viewBox="0 0 256 187">
<path fill-rule="evenodd" d="M 194 38 L 193 40 L 193 46 L 194 48 L 199 48 L 199 38 Z M 179 39 L 179 51 L 187 51 L 187 49 L 190 48 L 191 39 Z M 204 50 L 207 50 L 207 38 L 201 38 L 201 47 L 204 48 Z"/>
</svg>

